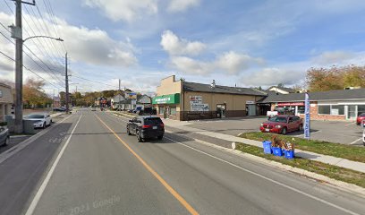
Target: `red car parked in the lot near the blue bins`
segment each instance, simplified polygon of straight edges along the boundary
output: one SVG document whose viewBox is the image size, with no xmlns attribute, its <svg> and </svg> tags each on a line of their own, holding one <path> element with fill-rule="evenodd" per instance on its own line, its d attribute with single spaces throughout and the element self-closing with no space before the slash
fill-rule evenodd
<svg viewBox="0 0 365 215">
<path fill-rule="evenodd" d="M 302 129 L 303 122 L 301 117 L 293 115 L 272 116 L 259 127 L 259 130 L 263 133 L 281 134 L 286 134 L 293 131 L 301 131 Z"/>
</svg>

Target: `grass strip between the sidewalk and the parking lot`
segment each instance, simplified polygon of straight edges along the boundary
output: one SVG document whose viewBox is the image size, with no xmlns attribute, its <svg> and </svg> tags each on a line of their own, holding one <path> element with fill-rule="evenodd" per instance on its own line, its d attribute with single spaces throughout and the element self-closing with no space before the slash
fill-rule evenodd
<svg viewBox="0 0 365 215">
<path fill-rule="evenodd" d="M 255 141 L 265 141 L 271 140 L 273 133 L 242 133 L 239 137 L 255 140 Z M 278 135 L 281 140 L 285 142 L 292 142 L 293 136 Z M 359 146 L 344 145 L 334 142 L 322 142 L 316 140 L 306 140 L 302 138 L 295 137 L 295 149 L 308 150 L 311 152 L 316 152 L 318 154 L 330 155 L 342 159 L 350 159 L 353 161 L 359 161 L 365 163 L 365 149 Z"/>
</svg>

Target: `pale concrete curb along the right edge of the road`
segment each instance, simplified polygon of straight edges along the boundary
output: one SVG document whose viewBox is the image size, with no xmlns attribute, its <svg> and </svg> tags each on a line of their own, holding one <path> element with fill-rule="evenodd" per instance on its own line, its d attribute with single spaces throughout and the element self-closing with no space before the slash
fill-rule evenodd
<svg viewBox="0 0 365 215">
<path fill-rule="evenodd" d="M 173 132 L 166 130 L 166 133 L 173 133 Z M 335 179 L 327 177 L 327 176 L 323 176 L 323 175 L 319 175 L 317 173 L 307 171 L 305 169 L 293 168 L 289 165 L 285 165 L 285 164 L 276 162 L 274 160 L 264 159 L 264 158 L 261 158 L 259 156 L 251 155 L 249 153 L 244 153 L 241 150 L 228 149 L 228 148 L 225 148 L 223 146 L 218 146 L 214 143 L 201 141 L 201 140 L 195 139 L 195 138 L 192 138 L 192 139 L 195 142 L 199 142 L 200 144 L 215 148 L 217 150 L 224 150 L 226 152 L 235 154 L 235 155 L 240 156 L 242 158 L 254 160 L 256 162 L 259 162 L 260 164 L 264 164 L 264 165 L 274 167 L 274 168 L 280 168 L 280 169 L 283 169 L 283 170 L 286 170 L 286 171 L 290 171 L 290 172 L 299 174 L 301 176 L 307 176 L 307 177 L 313 178 L 313 179 L 315 179 L 317 181 L 320 181 L 320 182 L 326 182 L 327 185 L 332 185 L 332 186 L 335 186 L 335 188 L 340 188 L 341 190 L 344 190 L 346 192 L 356 193 L 357 195 L 360 195 L 361 197 L 365 197 L 365 188 L 363 188 L 361 186 L 352 185 L 350 183 L 346 183 L 346 182 L 343 182 L 343 181 L 338 181 L 338 180 L 335 180 Z"/>
</svg>

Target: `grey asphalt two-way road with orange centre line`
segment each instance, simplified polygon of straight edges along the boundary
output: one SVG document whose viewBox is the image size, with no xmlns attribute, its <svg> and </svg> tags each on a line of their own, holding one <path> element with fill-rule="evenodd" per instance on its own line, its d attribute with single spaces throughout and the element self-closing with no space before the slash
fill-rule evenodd
<svg viewBox="0 0 365 215">
<path fill-rule="evenodd" d="M 78 111 L 6 159 L 0 214 L 364 214 L 360 196 L 174 133 L 140 143 L 126 122 Z"/>
</svg>

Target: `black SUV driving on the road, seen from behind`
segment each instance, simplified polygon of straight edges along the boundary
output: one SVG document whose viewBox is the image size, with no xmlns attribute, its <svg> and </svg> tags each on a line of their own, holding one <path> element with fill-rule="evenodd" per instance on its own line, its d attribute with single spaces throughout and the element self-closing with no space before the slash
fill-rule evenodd
<svg viewBox="0 0 365 215">
<path fill-rule="evenodd" d="M 135 134 L 138 142 L 144 142 L 147 138 L 153 137 L 161 140 L 164 137 L 165 125 L 157 116 L 137 116 L 127 124 L 127 133 Z"/>
</svg>

